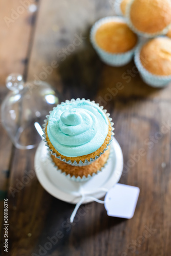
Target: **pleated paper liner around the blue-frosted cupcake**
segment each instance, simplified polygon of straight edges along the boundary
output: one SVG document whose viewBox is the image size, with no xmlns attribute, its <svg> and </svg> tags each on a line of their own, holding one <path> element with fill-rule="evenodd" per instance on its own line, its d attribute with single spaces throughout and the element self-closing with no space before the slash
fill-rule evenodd
<svg viewBox="0 0 171 256">
<path fill-rule="evenodd" d="M 84 98 L 82 98 L 82 99 L 84 99 Z M 75 99 L 71 99 L 71 101 L 70 101 L 70 100 L 66 100 L 66 102 L 73 102 L 73 101 L 80 101 L 80 100 L 81 100 L 80 98 L 77 98 L 76 100 L 75 100 Z M 88 99 L 88 101 L 90 101 L 90 99 Z M 91 102 L 95 103 L 94 100 L 91 101 Z M 64 102 L 61 102 L 61 103 L 64 103 Z M 96 105 L 99 106 L 99 103 L 96 103 Z M 54 108 L 56 108 L 56 107 L 54 107 Z M 47 140 L 46 140 L 45 128 L 46 128 L 46 125 L 47 125 L 47 122 L 48 122 L 48 119 L 49 119 L 49 116 L 50 116 L 50 115 L 47 115 L 47 116 L 46 116 L 47 119 L 44 120 L 45 123 L 43 124 L 44 129 L 42 129 L 42 131 L 44 131 L 44 135 L 42 135 L 42 136 L 45 138 L 45 139 L 43 139 L 43 140 L 46 142 L 45 145 L 48 146 L 49 152 L 50 152 L 53 156 L 55 156 L 57 159 L 61 160 L 62 162 L 65 162 L 65 163 L 70 164 L 70 165 L 73 165 L 73 166 L 88 165 L 88 164 L 94 162 L 96 159 L 98 159 L 102 154 L 104 154 L 104 152 L 109 149 L 109 145 L 111 144 L 111 142 L 112 142 L 112 140 L 113 140 L 113 135 L 114 135 L 113 131 L 114 131 L 115 129 L 114 129 L 114 127 L 113 127 L 114 123 L 112 122 L 112 118 L 109 117 L 110 114 L 109 114 L 109 113 L 106 113 L 106 112 L 107 112 L 106 110 L 103 110 L 103 106 L 100 106 L 99 108 L 100 108 L 100 109 L 105 113 L 105 115 L 108 117 L 108 119 L 109 119 L 109 121 L 110 121 L 110 123 L 111 123 L 111 127 L 112 127 L 111 139 L 110 139 L 109 143 L 107 144 L 106 148 L 104 148 L 103 152 L 101 152 L 98 156 L 95 156 L 95 158 L 90 158 L 90 160 L 87 160 L 87 159 L 86 159 L 86 160 L 84 161 L 84 163 L 83 163 L 81 160 L 79 161 L 79 163 L 77 163 L 76 161 L 72 162 L 71 160 L 67 161 L 65 158 L 62 159 L 60 156 L 57 156 L 56 153 L 54 153 L 53 150 L 51 150 L 51 148 L 49 147 L 48 142 L 47 142 Z M 51 112 L 52 112 L 52 111 L 50 111 L 49 113 L 51 114 Z"/>
</svg>

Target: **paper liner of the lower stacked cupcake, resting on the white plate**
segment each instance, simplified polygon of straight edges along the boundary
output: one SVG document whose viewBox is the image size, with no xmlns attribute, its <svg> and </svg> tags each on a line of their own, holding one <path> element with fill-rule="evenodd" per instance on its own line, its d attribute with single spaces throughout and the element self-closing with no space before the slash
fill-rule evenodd
<svg viewBox="0 0 171 256">
<path fill-rule="evenodd" d="M 53 159 L 51 158 L 50 154 L 49 154 L 49 157 L 50 157 L 50 161 L 51 163 L 53 164 L 53 166 L 56 168 L 57 172 L 59 172 L 60 174 L 62 174 L 63 176 L 66 176 L 68 179 L 72 180 L 72 181 L 76 181 L 76 182 L 85 182 L 85 181 L 88 181 L 90 180 L 91 178 L 93 178 L 94 176 L 98 175 L 99 173 L 101 173 L 103 171 L 103 169 L 105 168 L 106 164 L 108 164 L 108 161 L 109 159 L 111 158 L 112 156 L 112 153 L 113 153 L 113 148 L 110 148 L 110 154 L 109 154 L 109 157 L 107 159 L 107 161 L 105 162 L 105 164 L 100 168 L 100 170 L 97 170 L 96 173 L 93 173 L 92 175 L 88 175 L 87 177 L 86 176 L 78 176 L 78 177 L 75 177 L 74 175 L 71 176 L 70 174 L 66 174 L 65 172 L 62 172 L 61 169 L 58 168 L 58 166 L 54 163 Z"/>
</svg>

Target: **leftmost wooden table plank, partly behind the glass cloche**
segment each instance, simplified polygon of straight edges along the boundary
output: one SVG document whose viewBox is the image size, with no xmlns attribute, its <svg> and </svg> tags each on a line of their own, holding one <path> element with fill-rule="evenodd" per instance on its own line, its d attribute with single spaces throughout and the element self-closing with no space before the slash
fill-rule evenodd
<svg viewBox="0 0 171 256">
<path fill-rule="evenodd" d="M 25 12 L 20 14 L 16 20 L 12 19 L 11 15 L 14 13 L 14 11 L 11 11 L 11 9 L 17 10 L 19 6 L 19 1 L 11 1 L 8 5 L 4 5 L 2 2 L 0 3 L 0 15 L 3 17 L 0 20 L 1 35 L 3 37 L 3 40 L 0 41 L 0 85 L 3 87 L 1 88 L 1 102 L 8 93 L 8 90 L 5 88 L 6 77 L 12 72 L 23 74 L 28 57 L 27 52 L 30 33 L 32 30 L 29 20 L 31 20 L 33 14 L 28 13 L 28 10 L 26 9 Z M 11 18 L 13 22 L 8 20 L 7 17 Z M 8 25 L 6 24 L 5 20 Z M 2 121 L 3 120 L 1 120 L 1 124 Z M 2 125 L 1 135 L 1 145 L 3 148 L 1 159 L 4 163 L 1 165 L 4 165 L 1 171 L 3 172 L 3 170 L 8 169 L 9 167 L 11 143 Z M 8 163 L 6 163 L 6 161 Z M 3 188 L 3 185 L 5 184 L 4 180 L 1 178 L 0 182 L 1 188 Z"/>
</svg>

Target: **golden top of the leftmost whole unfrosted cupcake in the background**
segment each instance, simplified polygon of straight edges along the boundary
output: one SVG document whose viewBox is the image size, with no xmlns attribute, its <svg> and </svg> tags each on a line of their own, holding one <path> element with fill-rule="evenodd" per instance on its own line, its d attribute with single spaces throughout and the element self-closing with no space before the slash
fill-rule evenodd
<svg viewBox="0 0 171 256">
<path fill-rule="evenodd" d="M 138 38 L 124 21 L 118 19 L 102 24 L 96 31 L 95 40 L 102 50 L 117 54 L 132 50 Z"/>
</svg>

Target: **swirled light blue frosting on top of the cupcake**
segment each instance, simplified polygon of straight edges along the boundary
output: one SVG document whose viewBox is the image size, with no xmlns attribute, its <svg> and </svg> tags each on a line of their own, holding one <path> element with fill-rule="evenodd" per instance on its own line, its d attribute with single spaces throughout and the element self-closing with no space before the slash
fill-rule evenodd
<svg viewBox="0 0 171 256">
<path fill-rule="evenodd" d="M 47 133 L 63 156 L 78 157 L 95 152 L 108 135 L 109 121 L 96 103 L 63 102 L 49 116 Z"/>
</svg>

